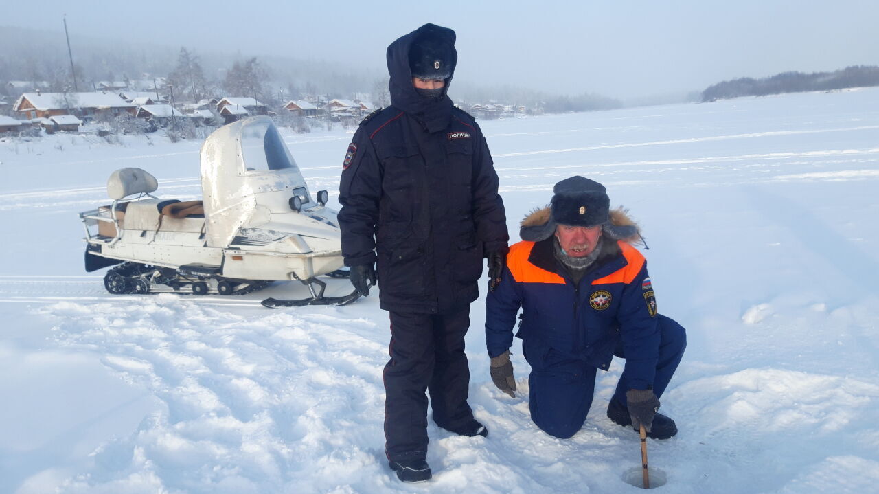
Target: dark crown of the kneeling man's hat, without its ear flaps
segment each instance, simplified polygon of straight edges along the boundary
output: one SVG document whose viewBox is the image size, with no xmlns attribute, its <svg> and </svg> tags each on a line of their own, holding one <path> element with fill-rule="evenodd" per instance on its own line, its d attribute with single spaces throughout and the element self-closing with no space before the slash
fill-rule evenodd
<svg viewBox="0 0 879 494">
<path fill-rule="evenodd" d="M 575 175 L 553 188 L 552 221 L 572 227 L 594 227 L 609 221 L 607 189 L 595 180 Z"/>
</svg>

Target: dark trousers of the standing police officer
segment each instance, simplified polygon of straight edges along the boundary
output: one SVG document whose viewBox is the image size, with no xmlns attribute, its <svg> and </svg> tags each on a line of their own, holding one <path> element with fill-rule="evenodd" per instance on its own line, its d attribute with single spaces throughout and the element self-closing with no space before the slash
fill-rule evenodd
<svg viewBox="0 0 879 494">
<path fill-rule="evenodd" d="M 433 421 L 450 431 L 473 420 L 464 335 L 469 305 L 450 314 L 390 313 L 390 360 L 384 368 L 385 451 L 390 461 L 425 459 L 427 396 Z"/>
</svg>

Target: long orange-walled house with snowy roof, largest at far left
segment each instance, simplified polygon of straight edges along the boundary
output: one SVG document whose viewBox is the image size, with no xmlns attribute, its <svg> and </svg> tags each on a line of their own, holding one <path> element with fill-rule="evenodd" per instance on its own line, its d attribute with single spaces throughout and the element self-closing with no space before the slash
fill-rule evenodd
<svg viewBox="0 0 879 494">
<path fill-rule="evenodd" d="M 111 92 L 25 92 L 12 110 L 25 119 L 49 118 L 56 115 L 76 114 L 91 118 L 102 113 L 111 115 L 131 114 L 137 106 Z"/>
</svg>

